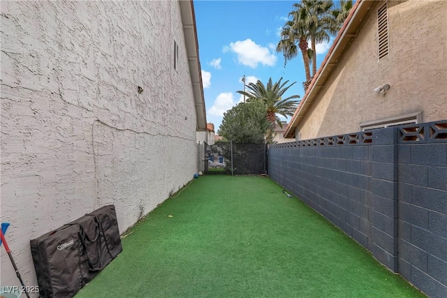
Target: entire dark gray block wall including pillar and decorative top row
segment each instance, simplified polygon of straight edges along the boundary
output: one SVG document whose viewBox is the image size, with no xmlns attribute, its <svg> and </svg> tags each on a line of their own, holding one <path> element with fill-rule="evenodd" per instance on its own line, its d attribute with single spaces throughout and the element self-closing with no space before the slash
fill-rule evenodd
<svg viewBox="0 0 447 298">
<path fill-rule="evenodd" d="M 383 265 L 447 297 L 447 120 L 271 145 L 268 174 Z"/>
</svg>

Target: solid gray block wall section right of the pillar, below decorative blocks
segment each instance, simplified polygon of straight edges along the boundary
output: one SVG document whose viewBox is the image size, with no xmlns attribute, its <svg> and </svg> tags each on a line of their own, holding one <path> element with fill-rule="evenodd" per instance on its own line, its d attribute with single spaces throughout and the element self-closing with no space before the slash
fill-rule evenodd
<svg viewBox="0 0 447 298">
<path fill-rule="evenodd" d="M 400 142 L 398 167 L 400 273 L 447 297 L 447 144 Z"/>
</svg>

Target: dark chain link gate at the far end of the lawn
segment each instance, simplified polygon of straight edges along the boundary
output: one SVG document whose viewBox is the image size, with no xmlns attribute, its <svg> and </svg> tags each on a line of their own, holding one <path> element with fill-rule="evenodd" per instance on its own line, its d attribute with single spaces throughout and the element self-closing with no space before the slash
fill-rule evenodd
<svg viewBox="0 0 447 298">
<path fill-rule="evenodd" d="M 258 175 L 267 173 L 267 145 L 205 143 L 205 174 Z"/>
</svg>

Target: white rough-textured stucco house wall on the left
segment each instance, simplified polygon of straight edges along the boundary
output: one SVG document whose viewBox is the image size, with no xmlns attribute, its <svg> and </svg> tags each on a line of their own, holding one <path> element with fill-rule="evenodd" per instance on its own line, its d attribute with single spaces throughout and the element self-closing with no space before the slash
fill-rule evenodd
<svg viewBox="0 0 447 298">
<path fill-rule="evenodd" d="M 196 110 L 177 1 L 6 1 L 1 31 L 1 221 L 31 286 L 30 239 L 105 204 L 124 232 L 192 178 Z"/>
</svg>

